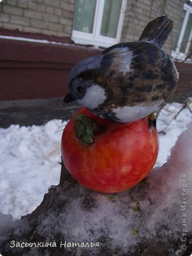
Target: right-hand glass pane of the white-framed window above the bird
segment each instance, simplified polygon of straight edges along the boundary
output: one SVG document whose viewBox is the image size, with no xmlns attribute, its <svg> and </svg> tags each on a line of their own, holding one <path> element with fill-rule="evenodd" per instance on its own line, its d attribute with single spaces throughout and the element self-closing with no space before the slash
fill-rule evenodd
<svg viewBox="0 0 192 256">
<path fill-rule="evenodd" d="M 101 36 L 116 38 L 121 5 L 122 0 L 105 0 L 100 31 Z"/>
</svg>

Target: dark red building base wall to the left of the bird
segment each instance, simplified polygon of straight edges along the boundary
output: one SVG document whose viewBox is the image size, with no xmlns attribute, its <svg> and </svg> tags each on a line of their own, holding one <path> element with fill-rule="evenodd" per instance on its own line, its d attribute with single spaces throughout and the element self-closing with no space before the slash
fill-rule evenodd
<svg viewBox="0 0 192 256">
<path fill-rule="evenodd" d="M 94 47 L 65 42 L 51 44 L 7 38 L 0 38 L 0 49 L 0 101 L 64 97 L 71 68 L 101 52 Z"/>
</svg>

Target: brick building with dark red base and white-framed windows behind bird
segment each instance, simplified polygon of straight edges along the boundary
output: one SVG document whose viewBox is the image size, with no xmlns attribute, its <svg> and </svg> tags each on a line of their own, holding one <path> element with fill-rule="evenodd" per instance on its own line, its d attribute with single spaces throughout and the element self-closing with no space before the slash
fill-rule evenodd
<svg viewBox="0 0 192 256">
<path fill-rule="evenodd" d="M 147 23 L 161 15 L 174 21 L 163 48 L 175 60 L 184 90 L 191 83 L 191 1 L 1 1 L 0 100 L 63 97 L 77 61 L 137 41 Z"/>
</svg>

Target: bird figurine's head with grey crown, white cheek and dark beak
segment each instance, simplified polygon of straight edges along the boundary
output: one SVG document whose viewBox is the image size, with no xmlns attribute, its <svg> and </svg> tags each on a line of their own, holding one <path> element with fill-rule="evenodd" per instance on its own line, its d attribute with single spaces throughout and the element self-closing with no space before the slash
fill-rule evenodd
<svg viewBox="0 0 192 256">
<path fill-rule="evenodd" d="M 102 58 L 102 55 L 86 58 L 71 69 L 68 77 L 68 94 L 64 102 L 69 103 L 76 100 L 81 105 L 93 109 L 105 101 L 105 90 L 94 82 Z"/>
</svg>

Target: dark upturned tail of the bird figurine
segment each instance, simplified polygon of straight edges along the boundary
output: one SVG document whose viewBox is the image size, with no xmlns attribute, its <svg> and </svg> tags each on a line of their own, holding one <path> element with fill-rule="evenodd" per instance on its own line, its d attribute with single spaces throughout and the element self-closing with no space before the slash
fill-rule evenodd
<svg viewBox="0 0 192 256">
<path fill-rule="evenodd" d="M 150 21 L 143 30 L 139 41 L 149 41 L 160 47 L 165 43 L 173 28 L 173 21 L 166 16 L 158 17 Z"/>
</svg>

